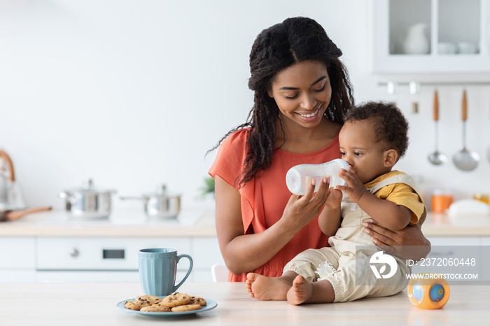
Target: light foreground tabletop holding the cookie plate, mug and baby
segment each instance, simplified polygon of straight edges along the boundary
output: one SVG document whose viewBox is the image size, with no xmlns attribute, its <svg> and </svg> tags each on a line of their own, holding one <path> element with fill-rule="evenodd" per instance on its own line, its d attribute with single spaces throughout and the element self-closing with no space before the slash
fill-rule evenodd
<svg viewBox="0 0 490 326">
<path fill-rule="evenodd" d="M 2 283 L 2 325 L 484 325 L 490 318 L 490 287 L 453 285 L 443 309 L 410 304 L 406 290 L 392 297 L 337 304 L 261 302 L 244 283 L 185 283 L 179 292 L 218 303 L 190 316 L 150 318 L 116 308 L 141 295 L 139 283 Z"/>
</svg>

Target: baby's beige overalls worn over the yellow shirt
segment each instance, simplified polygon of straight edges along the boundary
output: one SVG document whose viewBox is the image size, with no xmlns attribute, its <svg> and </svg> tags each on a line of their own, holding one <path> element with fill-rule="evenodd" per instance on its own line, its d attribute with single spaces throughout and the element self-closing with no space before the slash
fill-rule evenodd
<svg viewBox="0 0 490 326">
<path fill-rule="evenodd" d="M 405 183 L 416 192 L 414 180 L 407 174 L 388 177 L 368 190 L 376 195 L 382 187 L 393 183 Z M 381 248 L 374 246 L 372 238 L 364 232 L 362 225 L 370 216 L 352 203 L 346 194 L 342 198 L 341 211 L 341 225 L 335 236 L 328 239 L 332 247 L 303 251 L 286 264 L 283 272 L 294 271 L 309 282 L 330 281 L 335 291 L 334 302 L 348 302 L 366 296 L 386 297 L 403 290 L 408 283 L 406 275 L 411 273 L 405 260 L 392 256 L 398 263 L 395 275 L 389 281 L 377 279 L 370 267 L 370 258 L 381 251 Z M 426 213 L 424 208 L 419 220 L 425 219 Z M 356 246 L 370 247 L 358 248 L 356 252 Z"/>
</svg>

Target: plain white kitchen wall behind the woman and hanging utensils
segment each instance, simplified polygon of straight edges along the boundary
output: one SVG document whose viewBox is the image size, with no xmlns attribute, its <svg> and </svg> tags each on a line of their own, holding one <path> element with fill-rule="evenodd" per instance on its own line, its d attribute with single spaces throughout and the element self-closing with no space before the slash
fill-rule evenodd
<svg viewBox="0 0 490 326">
<path fill-rule="evenodd" d="M 288 2 L 288 1 L 286 1 Z M 369 2 L 272 1 L 0 2 L 0 148 L 13 160 L 28 206 L 61 209 L 57 194 L 91 177 L 118 195 L 153 192 L 158 183 L 200 200 L 218 139 L 246 120 L 248 54 L 255 36 L 286 17 L 318 20 L 344 52 L 356 101 L 397 101 L 410 123 L 410 146 L 396 169 L 457 198 L 490 193 L 490 86 L 468 86 L 467 147 L 474 171 L 452 162 L 462 149 L 461 85 L 440 86 L 439 148 L 434 150 L 434 87 L 421 87 L 412 113 L 407 86 L 395 94 L 370 71 Z M 256 8 L 262 8 L 257 12 Z M 253 17 L 253 20 L 250 19 Z M 114 208 L 141 202 L 114 202 Z"/>
</svg>

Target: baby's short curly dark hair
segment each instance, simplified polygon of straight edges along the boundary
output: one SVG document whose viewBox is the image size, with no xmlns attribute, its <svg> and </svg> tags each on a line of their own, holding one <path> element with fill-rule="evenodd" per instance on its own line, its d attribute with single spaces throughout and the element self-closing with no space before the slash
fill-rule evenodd
<svg viewBox="0 0 490 326">
<path fill-rule="evenodd" d="M 398 160 L 407 152 L 408 122 L 402 111 L 393 103 L 367 101 L 351 110 L 345 116 L 345 122 L 370 120 L 376 134 L 376 141 L 384 143 L 386 149 L 393 148 Z"/>
</svg>

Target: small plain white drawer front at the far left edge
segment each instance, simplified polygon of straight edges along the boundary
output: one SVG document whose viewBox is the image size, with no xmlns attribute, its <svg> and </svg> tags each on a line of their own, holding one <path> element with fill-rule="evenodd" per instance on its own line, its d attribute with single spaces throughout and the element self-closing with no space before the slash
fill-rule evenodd
<svg viewBox="0 0 490 326">
<path fill-rule="evenodd" d="M 0 269 L 34 269 L 34 238 L 0 238 Z"/>
</svg>

